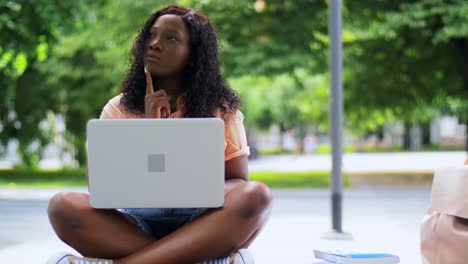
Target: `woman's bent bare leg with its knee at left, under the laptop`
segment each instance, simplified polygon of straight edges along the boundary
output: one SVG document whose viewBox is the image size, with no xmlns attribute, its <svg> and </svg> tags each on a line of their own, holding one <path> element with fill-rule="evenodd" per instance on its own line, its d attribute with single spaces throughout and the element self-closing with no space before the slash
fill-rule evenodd
<svg viewBox="0 0 468 264">
<path fill-rule="evenodd" d="M 48 214 L 58 237 L 87 257 L 121 258 L 155 241 L 123 213 L 92 208 L 84 193 L 55 195 Z"/>
</svg>

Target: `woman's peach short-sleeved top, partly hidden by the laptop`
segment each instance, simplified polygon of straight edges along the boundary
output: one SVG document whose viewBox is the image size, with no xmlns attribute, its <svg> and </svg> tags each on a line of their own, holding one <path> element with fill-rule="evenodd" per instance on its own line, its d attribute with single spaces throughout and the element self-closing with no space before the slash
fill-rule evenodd
<svg viewBox="0 0 468 264">
<path fill-rule="evenodd" d="M 122 94 L 109 100 L 102 110 L 100 119 L 126 119 L 143 118 L 143 115 L 129 113 L 121 105 Z M 213 113 L 224 121 L 224 160 L 230 160 L 242 155 L 249 155 L 247 137 L 244 128 L 244 115 L 240 110 L 234 114 L 222 114 L 222 111 Z"/>
</svg>

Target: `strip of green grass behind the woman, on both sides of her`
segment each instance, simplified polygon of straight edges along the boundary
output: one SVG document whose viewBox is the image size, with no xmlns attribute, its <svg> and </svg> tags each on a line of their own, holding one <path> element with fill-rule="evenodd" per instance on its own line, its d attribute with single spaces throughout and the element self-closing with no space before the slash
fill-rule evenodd
<svg viewBox="0 0 468 264">
<path fill-rule="evenodd" d="M 85 169 L 62 170 L 0 170 L 0 187 L 67 187 L 86 186 Z M 325 171 L 310 172 L 253 172 L 250 179 L 260 181 L 271 188 L 327 188 L 330 173 Z M 349 179 L 345 175 L 345 186 Z"/>
</svg>

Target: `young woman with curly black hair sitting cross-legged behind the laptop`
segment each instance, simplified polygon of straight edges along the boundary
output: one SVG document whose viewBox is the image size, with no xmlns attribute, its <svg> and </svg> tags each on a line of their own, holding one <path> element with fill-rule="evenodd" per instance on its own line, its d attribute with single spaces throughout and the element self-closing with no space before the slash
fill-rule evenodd
<svg viewBox="0 0 468 264">
<path fill-rule="evenodd" d="M 222 118 L 224 206 L 98 210 L 87 194 L 59 193 L 49 203 L 50 222 L 84 257 L 62 254 L 49 263 L 253 263 L 245 248 L 269 217 L 271 193 L 248 181 L 239 105 L 221 76 L 218 39 L 207 17 L 179 6 L 151 15 L 136 38 L 121 94 L 101 118 Z"/>
</svg>

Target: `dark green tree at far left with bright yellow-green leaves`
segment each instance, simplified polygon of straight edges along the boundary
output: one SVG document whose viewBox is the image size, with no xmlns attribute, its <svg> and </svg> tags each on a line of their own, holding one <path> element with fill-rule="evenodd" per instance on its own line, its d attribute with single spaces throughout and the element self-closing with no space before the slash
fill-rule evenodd
<svg viewBox="0 0 468 264">
<path fill-rule="evenodd" d="M 38 164 L 37 152 L 48 139 L 39 123 L 57 100 L 38 66 L 81 8 L 75 1 L 0 1 L 0 153 L 17 140 L 25 166 Z"/>
</svg>

